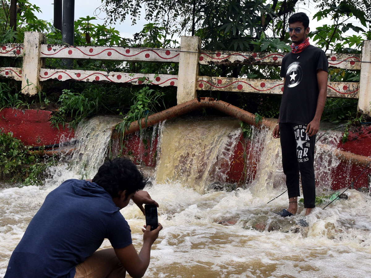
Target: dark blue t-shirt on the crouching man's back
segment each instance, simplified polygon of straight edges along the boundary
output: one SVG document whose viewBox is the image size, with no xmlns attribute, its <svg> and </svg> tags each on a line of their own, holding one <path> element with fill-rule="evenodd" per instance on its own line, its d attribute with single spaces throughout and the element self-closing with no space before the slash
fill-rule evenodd
<svg viewBox="0 0 371 278">
<path fill-rule="evenodd" d="M 73 278 L 75 267 L 108 238 L 132 243 L 111 195 L 93 182 L 70 179 L 50 192 L 14 249 L 4 278 Z"/>
</svg>

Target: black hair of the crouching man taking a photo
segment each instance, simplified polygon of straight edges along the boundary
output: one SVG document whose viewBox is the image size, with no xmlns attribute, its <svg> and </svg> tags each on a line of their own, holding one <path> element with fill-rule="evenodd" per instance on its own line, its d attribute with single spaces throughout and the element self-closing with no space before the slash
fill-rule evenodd
<svg viewBox="0 0 371 278">
<path fill-rule="evenodd" d="M 112 198 L 119 197 L 118 192 L 126 190 L 125 196 L 142 190 L 148 179 L 137 169 L 137 166 L 127 158 L 107 160 L 98 169 L 93 182 L 103 187 Z"/>
</svg>

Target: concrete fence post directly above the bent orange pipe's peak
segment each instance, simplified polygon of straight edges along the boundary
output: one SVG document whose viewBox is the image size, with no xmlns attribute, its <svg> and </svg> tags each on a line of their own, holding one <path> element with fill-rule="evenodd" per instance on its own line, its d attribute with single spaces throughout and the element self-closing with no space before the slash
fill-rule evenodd
<svg viewBox="0 0 371 278">
<path fill-rule="evenodd" d="M 178 72 L 177 103 L 181 104 L 197 97 L 199 37 L 181 36 Z"/>
</svg>

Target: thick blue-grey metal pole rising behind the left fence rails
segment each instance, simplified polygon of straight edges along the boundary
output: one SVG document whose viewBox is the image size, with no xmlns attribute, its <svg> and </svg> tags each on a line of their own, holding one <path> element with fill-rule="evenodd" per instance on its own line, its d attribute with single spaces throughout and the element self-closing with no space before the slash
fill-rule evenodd
<svg viewBox="0 0 371 278">
<path fill-rule="evenodd" d="M 69 46 L 73 46 L 75 20 L 75 0 L 63 0 L 62 40 Z M 73 60 L 63 59 L 67 69 L 72 68 Z"/>
</svg>

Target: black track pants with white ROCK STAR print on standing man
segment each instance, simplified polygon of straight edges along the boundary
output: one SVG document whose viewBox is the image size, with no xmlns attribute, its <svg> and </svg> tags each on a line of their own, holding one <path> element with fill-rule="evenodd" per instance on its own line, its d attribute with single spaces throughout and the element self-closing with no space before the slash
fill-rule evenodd
<svg viewBox="0 0 371 278">
<path fill-rule="evenodd" d="M 306 125 L 280 123 L 282 166 L 286 175 L 289 198 L 300 196 L 299 171 L 302 181 L 304 208 L 314 208 L 316 187 L 314 178 L 315 135 L 305 133 Z"/>
</svg>

